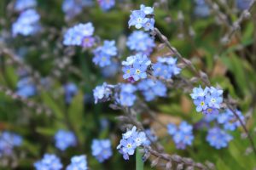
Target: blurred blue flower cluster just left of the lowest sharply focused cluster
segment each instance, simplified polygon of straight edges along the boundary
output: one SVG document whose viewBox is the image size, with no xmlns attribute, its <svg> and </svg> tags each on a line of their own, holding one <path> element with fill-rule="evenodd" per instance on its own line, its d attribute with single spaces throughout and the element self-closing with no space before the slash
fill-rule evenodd
<svg viewBox="0 0 256 170">
<path fill-rule="evenodd" d="M 112 156 L 111 142 L 109 139 L 94 139 L 91 144 L 92 156 L 103 162 Z"/>
</svg>

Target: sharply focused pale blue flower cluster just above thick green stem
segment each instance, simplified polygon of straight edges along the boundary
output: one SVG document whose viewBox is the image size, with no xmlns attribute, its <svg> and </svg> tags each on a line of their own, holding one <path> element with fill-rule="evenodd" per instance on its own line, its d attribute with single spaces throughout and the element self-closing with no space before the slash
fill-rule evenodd
<svg viewBox="0 0 256 170">
<path fill-rule="evenodd" d="M 131 130 L 123 133 L 117 149 L 123 154 L 125 160 L 129 160 L 129 156 L 134 154 L 137 147 L 148 144 L 147 140 L 144 132 L 137 132 L 137 127 L 132 127 Z"/>
</svg>

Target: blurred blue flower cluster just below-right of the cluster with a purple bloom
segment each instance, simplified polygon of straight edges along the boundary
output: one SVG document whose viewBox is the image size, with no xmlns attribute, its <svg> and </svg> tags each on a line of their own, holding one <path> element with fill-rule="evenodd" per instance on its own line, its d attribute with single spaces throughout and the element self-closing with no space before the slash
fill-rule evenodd
<svg viewBox="0 0 256 170">
<path fill-rule="evenodd" d="M 97 47 L 94 51 L 94 58 L 92 61 L 99 65 L 100 67 L 104 67 L 107 65 L 111 65 L 113 56 L 117 55 L 117 48 L 115 47 L 114 41 L 105 40 L 102 46 Z"/>
</svg>

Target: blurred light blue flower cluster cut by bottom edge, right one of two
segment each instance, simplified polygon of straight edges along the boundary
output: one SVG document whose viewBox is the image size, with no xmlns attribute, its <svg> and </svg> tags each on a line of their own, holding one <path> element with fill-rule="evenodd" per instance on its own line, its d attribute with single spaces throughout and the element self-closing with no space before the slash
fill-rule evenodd
<svg viewBox="0 0 256 170">
<path fill-rule="evenodd" d="M 67 170 L 87 170 L 86 156 L 73 156 Z"/>
</svg>

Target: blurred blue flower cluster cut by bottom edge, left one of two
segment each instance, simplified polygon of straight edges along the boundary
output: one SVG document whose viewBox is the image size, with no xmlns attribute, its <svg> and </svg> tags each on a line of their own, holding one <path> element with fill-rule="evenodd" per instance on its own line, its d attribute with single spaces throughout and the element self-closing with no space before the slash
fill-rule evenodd
<svg viewBox="0 0 256 170">
<path fill-rule="evenodd" d="M 42 160 L 34 163 L 34 167 L 37 170 L 50 169 L 50 170 L 60 170 L 62 169 L 62 164 L 60 158 L 53 154 L 44 154 Z"/>
</svg>

